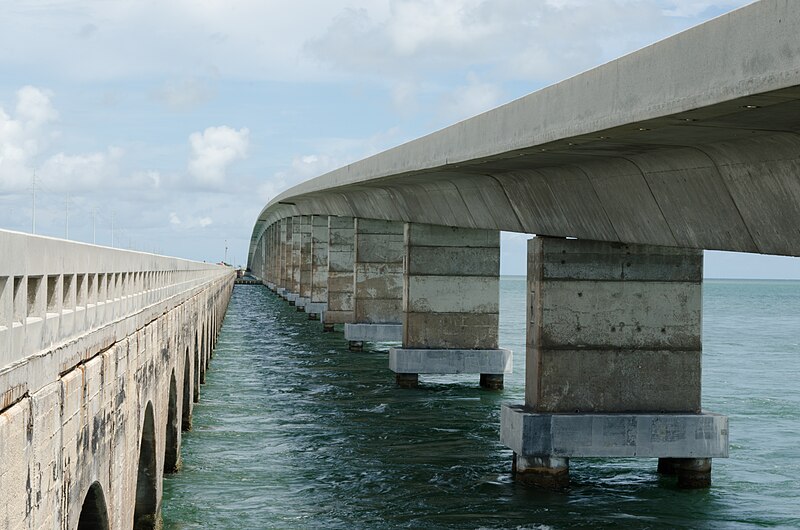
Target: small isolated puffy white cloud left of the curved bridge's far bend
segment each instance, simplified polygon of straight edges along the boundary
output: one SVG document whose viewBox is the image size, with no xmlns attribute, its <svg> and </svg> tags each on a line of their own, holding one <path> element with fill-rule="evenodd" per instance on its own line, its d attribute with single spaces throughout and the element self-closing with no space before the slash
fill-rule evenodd
<svg viewBox="0 0 800 530">
<path fill-rule="evenodd" d="M 250 130 L 237 131 L 226 125 L 208 127 L 202 133 L 192 133 L 189 145 L 189 174 L 198 184 L 221 187 L 225 184 L 228 166 L 247 157 Z"/>
</svg>

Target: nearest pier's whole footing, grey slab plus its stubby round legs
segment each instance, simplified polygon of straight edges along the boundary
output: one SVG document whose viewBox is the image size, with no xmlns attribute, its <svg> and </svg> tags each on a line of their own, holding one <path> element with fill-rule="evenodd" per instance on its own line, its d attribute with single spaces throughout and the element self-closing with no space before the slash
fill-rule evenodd
<svg viewBox="0 0 800 530">
<path fill-rule="evenodd" d="M 570 458 L 658 458 L 658 471 L 675 475 L 678 487 L 711 484 L 711 459 L 728 457 L 728 418 L 709 412 L 537 413 L 506 405 L 501 441 L 514 451 L 515 479 L 562 488 Z"/>
</svg>

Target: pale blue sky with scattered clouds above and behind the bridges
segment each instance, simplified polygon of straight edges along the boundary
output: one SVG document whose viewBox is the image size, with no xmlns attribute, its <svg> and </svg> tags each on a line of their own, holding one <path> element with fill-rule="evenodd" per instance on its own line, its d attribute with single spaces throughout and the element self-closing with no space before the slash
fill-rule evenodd
<svg viewBox="0 0 800 530">
<path fill-rule="evenodd" d="M 282 190 L 747 3 L 0 0 L 0 228 L 32 231 L 35 196 L 38 234 L 242 264 Z"/>
</svg>

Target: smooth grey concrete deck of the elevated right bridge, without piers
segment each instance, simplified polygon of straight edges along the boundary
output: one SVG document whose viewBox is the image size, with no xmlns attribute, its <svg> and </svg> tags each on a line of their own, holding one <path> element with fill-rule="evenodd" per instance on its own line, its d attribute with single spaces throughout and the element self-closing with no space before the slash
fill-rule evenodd
<svg viewBox="0 0 800 530">
<path fill-rule="evenodd" d="M 800 10 L 762 0 L 287 190 L 300 214 L 800 256 Z"/>
</svg>

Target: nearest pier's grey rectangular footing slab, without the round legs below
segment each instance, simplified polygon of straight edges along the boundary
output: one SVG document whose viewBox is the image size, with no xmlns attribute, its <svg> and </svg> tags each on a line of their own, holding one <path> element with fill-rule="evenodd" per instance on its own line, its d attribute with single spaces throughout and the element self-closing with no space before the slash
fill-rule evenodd
<svg viewBox="0 0 800 530">
<path fill-rule="evenodd" d="M 719 414 L 550 414 L 504 405 L 500 441 L 518 455 L 727 458 Z"/>
</svg>

